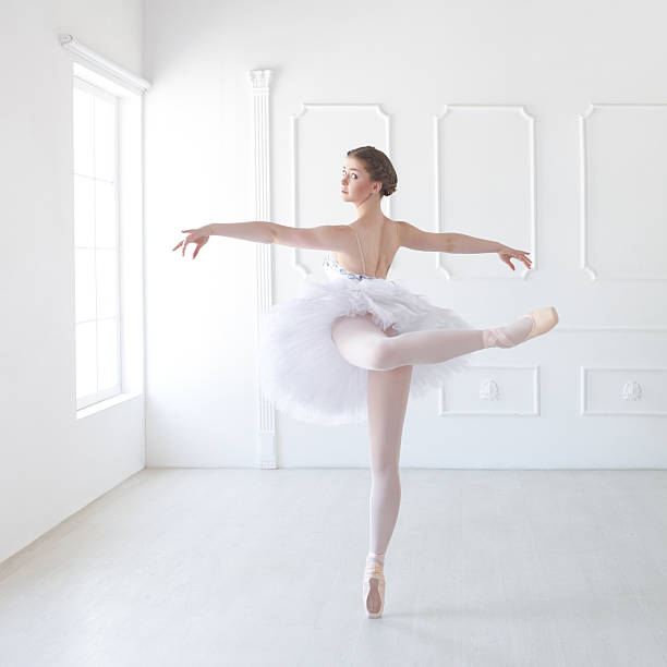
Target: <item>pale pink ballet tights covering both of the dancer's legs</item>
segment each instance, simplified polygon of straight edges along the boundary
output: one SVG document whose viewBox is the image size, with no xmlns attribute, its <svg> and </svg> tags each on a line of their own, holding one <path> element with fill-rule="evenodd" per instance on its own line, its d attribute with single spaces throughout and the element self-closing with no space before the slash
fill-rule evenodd
<svg viewBox="0 0 667 667">
<path fill-rule="evenodd" d="M 413 364 L 447 361 L 485 348 L 511 348 L 525 340 L 532 319 L 523 316 L 490 329 L 427 329 L 388 336 L 368 317 L 333 323 L 331 338 L 351 364 L 368 369 L 371 441 L 369 548 L 384 565 L 401 502 L 399 454 Z"/>
</svg>

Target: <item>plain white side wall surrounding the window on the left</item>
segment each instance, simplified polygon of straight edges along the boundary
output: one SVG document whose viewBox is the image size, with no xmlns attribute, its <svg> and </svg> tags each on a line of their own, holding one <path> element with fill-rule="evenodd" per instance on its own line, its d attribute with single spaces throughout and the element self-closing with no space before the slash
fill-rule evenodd
<svg viewBox="0 0 667 667">
<path fill-rule="evenodd" d="M 0 561 L 144 468 L 144 399 L 76 419 L 72 59 L 141 74 L 140 0 L 0 5 Z"/>
</svg>

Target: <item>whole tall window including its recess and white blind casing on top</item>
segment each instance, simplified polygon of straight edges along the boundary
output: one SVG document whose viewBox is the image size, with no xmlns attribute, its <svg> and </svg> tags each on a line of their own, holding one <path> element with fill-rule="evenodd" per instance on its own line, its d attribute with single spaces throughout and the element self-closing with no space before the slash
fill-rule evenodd
<svg viewBox="0 0 667 667">
<path fill-rule="evenodd" d="M 144 397 L 143 109 L 150 82 L 61 35 L 72 60 L 76 419 Z"/>
</svg>

